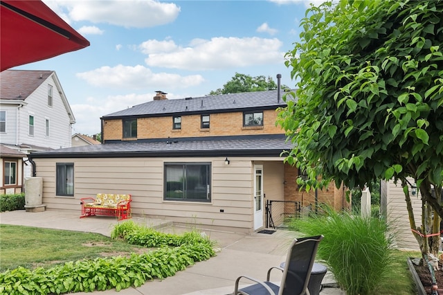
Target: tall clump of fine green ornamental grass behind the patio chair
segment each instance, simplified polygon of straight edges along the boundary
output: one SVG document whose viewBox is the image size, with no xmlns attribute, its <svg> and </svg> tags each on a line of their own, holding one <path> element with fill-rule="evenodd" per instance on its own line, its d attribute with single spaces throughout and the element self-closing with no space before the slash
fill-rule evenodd
<svg viewBox="0 0 443 295">
<path fill-rule="evenodd" d="M 377 294 L 388 278 L 394 249 L 389 225 L 383 220 L 326 208 L 325 215 L 291 220 L 290 228 L 325 235 L 317 258 L 325 260 L 347 295 Z"/>
</svg>

